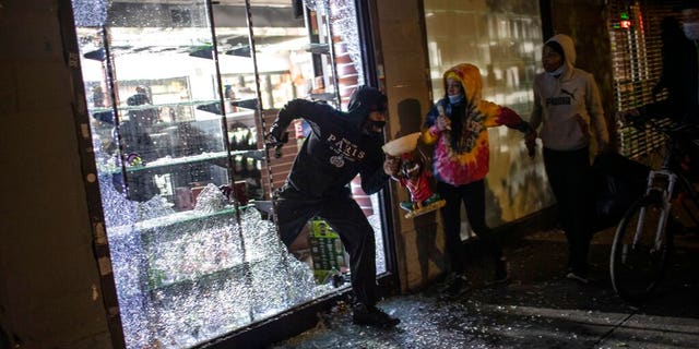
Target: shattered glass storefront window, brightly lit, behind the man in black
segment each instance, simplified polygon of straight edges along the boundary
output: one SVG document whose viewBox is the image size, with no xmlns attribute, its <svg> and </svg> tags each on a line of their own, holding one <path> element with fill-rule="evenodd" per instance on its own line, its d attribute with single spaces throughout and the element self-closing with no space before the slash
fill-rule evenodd
<svg viewBox="0 0 699 349">
<path fill-rule="evenodd" d="M 281 242 L 270 193 L 286 172 L 262 144 L 287 100 L 322 81 L 341 106 L 363 83 L 354 1 L 317 2 L 72 1 L 128 348 L 192 347 L 348 287 L 321 221 L 305 246 Z M 318 56 L 313 26 L 342 39 L 333 55 Z M 384 273 L 379 201 L 353 193 Z"/>
</svg>

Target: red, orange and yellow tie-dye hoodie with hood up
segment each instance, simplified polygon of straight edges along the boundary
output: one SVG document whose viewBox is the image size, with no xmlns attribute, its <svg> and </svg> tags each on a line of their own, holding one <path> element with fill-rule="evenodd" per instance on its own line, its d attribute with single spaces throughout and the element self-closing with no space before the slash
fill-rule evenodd
<svg viewBox="0 0 699 349">
<path fill-rule="evenodd" d="M 507 125 L 529 132 L 529 124 L 514 110 L 481 99 L 483 81 L 478 68 L 462 63 L 443 74 L 457 79 L 463 87 L 464 98 L 455 104 L 449 98 L 437 101 L 427 113 L 423 128 L 423 141 L 435 144 L 433 170 L 437 180 L 463 185 L 483 179 L 489 169 L 490 149 L 487 128 Z M 451 130 L 439 131 L 437 117 L 439 107 L 451 120 Z"/>
</svg>

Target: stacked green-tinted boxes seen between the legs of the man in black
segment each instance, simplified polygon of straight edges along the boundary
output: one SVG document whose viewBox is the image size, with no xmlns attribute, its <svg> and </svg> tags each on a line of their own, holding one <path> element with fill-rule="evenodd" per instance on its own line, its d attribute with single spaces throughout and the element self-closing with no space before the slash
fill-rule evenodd
<svg viewBox="0 0 699 349">
<path fill-rule="evenodd" d="M 309 225 L 313 275 L 318 282 L 323 282 L 331 273 L 347 269 L 347 257 L 340 236 L 332 230 L 328 222 L 313 218 Z"/>
</svg>

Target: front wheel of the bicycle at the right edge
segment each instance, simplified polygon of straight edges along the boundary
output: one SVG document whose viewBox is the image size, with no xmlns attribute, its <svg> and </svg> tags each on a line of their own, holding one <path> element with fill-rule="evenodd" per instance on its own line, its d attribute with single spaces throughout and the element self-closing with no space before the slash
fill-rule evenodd
<svg viewBox="0 0 699 349">
<path fill-rule="evenodd" d="M 672 231 L 662 227 L 660 239 L 655 241 L 662 213 L 662 195 L 653 191 L 633 203 L 617 227 L 609 272 L 614 290 L 627 302 L 648 300 L 667 267 Z"/>
</svg>

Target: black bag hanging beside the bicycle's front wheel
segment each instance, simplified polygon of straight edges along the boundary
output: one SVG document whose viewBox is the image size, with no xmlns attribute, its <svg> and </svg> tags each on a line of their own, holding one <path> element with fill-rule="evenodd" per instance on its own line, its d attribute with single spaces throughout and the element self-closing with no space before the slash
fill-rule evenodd
<svg viewBox="0 0 699 349">
<path fill-rule="evenodd" d="M 650 168 L 616 153 L 600 154 L 594 176 L 594 231 L 616 226 L 643 194 Z"/>
</svg>

